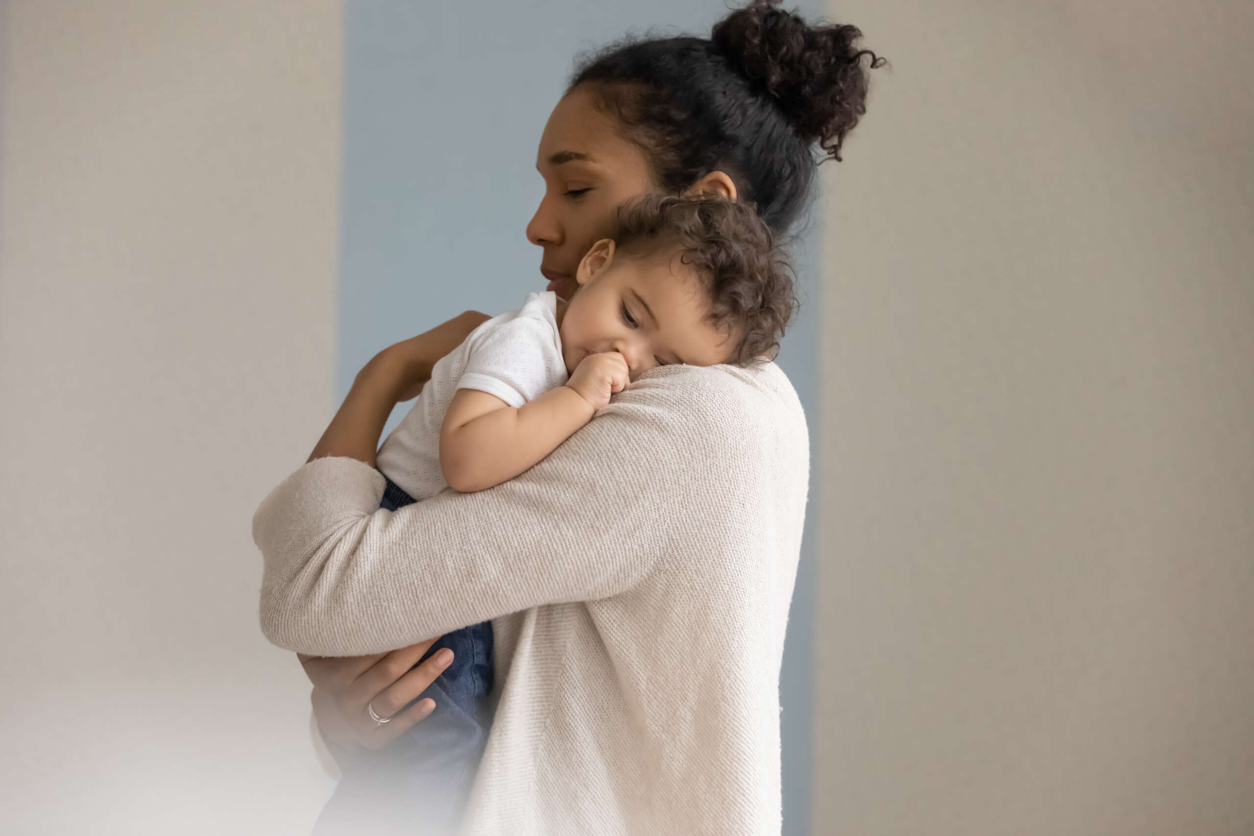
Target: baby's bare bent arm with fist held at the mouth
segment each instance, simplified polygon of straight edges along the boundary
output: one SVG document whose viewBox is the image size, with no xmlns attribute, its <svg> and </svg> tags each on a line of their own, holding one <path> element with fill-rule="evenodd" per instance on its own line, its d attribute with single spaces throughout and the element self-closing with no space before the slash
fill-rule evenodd
<svg viewBox="0 0 1254 836">
<path fill-rule="evenodd" d="M 616 351 L 588 355 L 558 386 L 513 407 L 495 395 L 459 389 L 440 426 L 440 470 L 458 491 L 499 485 L 553 452 L 627 385 Z"/>
</svg>

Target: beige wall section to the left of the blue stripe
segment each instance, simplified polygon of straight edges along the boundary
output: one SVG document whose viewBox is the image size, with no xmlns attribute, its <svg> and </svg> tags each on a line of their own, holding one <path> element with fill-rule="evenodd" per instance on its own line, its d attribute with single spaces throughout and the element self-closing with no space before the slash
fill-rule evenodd
<svg viewBox="0 0 1254 836">
<path fill-rule="evenodd" d="M 340 4 L 3 11 L 0 831 L 306 833 L 250 520 L 332 410 Z"/>
</svg>

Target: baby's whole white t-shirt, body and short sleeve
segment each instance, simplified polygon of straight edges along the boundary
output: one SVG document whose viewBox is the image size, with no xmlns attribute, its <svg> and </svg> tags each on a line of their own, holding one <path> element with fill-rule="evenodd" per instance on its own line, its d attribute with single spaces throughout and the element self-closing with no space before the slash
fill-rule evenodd
<svg viewBox="0 0 1254 836">
<path fill-rule="evenodd" d="M 488 320 L 440 357 L 414 409 L 384 440 L 379 470 L 414 499 L 429 499 L 448 488 L 440 426 L 456 390 L 477 389 L 522 406 L 566 381 L 557 293 L 528 293 L 520 310 Z"/>
</svg>

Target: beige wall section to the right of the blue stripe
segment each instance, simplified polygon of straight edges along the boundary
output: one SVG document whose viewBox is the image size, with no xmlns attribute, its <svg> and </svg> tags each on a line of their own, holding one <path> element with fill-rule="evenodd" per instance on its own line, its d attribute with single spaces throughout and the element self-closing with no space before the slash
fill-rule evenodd
<svg viewBox="0 0 1254 836">
<path fill-rule="evenodd" d="M 1254 5 L 831 14 L 815 832 L 1254 832 Z"/>
</svg>

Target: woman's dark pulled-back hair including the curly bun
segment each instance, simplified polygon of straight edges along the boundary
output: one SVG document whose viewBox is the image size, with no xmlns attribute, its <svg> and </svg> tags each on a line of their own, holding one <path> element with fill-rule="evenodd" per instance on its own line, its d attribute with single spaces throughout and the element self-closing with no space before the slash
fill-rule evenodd
<svg viewBox="0 0 1254 836">
<path fill-rule="evenodd" d="M 856 26 L 811 26 L 779 0 L 752 0 L 702 38 L 628 39 L 581 61 L 581 85 L 627 129 L 662 188 L 678 194 L 710 172 L 786 231 L 808 204 L 816 163 L 867 113 Z M 811 150 L 819 144 L 821 155 Z"/>
</svg>

